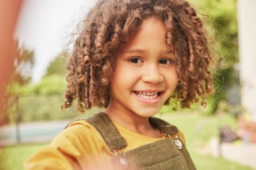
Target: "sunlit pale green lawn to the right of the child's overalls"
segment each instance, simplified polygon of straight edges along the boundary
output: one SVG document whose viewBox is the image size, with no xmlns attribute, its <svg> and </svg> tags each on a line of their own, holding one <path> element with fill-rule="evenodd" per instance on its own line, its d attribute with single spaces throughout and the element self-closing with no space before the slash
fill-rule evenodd
<svg viewBox="0 0 256 170">
<path fill-rule="evenodd" d="M 218 137 L 221 126 L 236 127 L 233 116 L 209 116 L 199 114 L 163 114 L 160 118 L 170 122 L 185 134 L 186 147 L 199 170 L 250 170 L 250 167 L 226 161 L 222 157 L 215 158 L 202 155 L 199 150 L 207 146 L 211 138 Z M 252 169 L 251 169 L 252 170 Z"/>
</svg>

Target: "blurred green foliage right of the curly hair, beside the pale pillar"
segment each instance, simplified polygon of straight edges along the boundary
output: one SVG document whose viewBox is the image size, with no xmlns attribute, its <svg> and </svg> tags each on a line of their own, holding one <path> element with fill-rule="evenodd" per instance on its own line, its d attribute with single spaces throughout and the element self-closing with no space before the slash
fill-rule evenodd
<svg viewBox="0 0 256 170">
<path fill-rule="evenodd" d="M 236 17 L 236 0 L 191 0 L 203 20 L 208 20 L 208 30 L 214 37 L 213 54 L 216 58 L 214 83 L 216 94 L 211 99 L 211 113 L 216 112 L 220 100 L 227 100 L 227 91 L 239 83 L 234 65 L 238 62 L 238 34 Z M 207 17 L 205 17 L 205 15 Z"/>
</svg>

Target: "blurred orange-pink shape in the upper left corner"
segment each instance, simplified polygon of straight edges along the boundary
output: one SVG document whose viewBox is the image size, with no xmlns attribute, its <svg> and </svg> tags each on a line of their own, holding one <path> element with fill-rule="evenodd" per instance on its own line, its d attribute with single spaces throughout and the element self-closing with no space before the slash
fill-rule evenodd
<svg viewBox="0 0 256 170">
<path fill-rule="evenodd" d="M 5 86 L 13 73 L 13 32 L 23 0 L 0 3 L 0 106 Z M 1 109 L 1 108 L 0 108 Z"/>
</svg>

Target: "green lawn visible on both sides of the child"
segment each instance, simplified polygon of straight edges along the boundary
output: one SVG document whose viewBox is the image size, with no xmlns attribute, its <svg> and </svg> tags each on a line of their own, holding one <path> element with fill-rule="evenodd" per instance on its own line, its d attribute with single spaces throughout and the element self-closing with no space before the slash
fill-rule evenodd
<svg viewBox="0 0 256 170">
<path fill-rule="evenodd" d="M 235 126 L 232 116 L 204 116 L 199 114 L 163 114 L 161 116 L 171 124 L 179 127 L 185 134 L 186 146 L 199 170 L 252 170 L 238 163 L 214 158 L 210 155 L 201 155 L 198 150 L 205 146 L 213 136 L 218 136 L 218 128 L 223 125 Z M 46 144 L 32 144 L 21 146 L 9 146 L 0 149 L 0 169 L 23 169 L 23 163 L 38 149 Z"/>
</svg>

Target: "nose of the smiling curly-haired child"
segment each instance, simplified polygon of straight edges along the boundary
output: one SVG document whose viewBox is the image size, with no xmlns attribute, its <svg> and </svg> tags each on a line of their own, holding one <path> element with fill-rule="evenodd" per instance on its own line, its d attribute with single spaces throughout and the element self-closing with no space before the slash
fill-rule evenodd
<svg viewBox="0 0 256 170">
<path fill-rule="evenodd" d="M 160 69 L 157 65 L 149 65 L 144 70 L 144 74 L 141 77 L 142 81 L 146 83 L 160 83 L 164 81 L 164 77 L 162 73 L 160 73 Z"/>
</svg>

